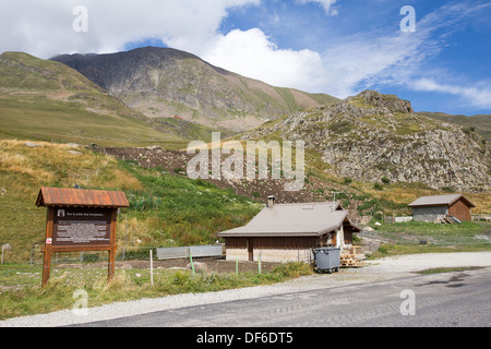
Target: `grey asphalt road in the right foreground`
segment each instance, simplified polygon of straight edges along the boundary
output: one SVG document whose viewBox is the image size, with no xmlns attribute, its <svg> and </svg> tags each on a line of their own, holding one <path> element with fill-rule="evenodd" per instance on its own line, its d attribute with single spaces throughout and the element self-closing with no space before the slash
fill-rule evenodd
<svg viewBox="0 0 491 349">
<path fill-rule="evenodd" d="M 179 308 L 80 326 L 491 326 L 489 268 L 326 287 Z"/>
</svg>

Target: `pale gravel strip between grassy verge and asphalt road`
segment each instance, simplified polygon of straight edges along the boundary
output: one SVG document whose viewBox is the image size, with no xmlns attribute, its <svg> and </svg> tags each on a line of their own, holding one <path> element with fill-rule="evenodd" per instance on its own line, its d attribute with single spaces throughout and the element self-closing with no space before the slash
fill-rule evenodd
<svg viewBox="0 0 491 349">
<path fill-rule="evenodd" d="M 259 286 L 209 293 L 185 293 L 158 299 L 112 303 L 89 308 L 85 315 L 71 310 L 50 314 L 16 317 L 0 322 L 0 327 L 52 327 L 118 318 L 193 305 L 268 297 L 306 290 L 375 282 L 414 275 L 414 272 L 434 267 L 491 266 L 491 252 L 429 253 L 386 257 L 370 261 L 362 268 L 340 269 L 335 274 L 301 277 L 283 284 Z M 89 300 L 88 300 L 89 304 Z"/>
</svg>

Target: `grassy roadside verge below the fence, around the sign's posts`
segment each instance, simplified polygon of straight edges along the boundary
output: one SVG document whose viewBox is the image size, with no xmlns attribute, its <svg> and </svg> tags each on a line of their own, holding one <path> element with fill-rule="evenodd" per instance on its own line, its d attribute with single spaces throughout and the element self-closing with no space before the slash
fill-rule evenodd
<svg viewBox="0 0 491 349">
<path fill-rule="evenodd" d="M 310 275 L 304 263 L 278 265 L 270 273 L 196 273 L 156 269 L 154 285 L 147 269 L 117 270 L 107 281 L 105 269 L 53 269 L 47 287 L 41 289 L 40 266 L 0 266 L 0 320 L 72 309 L 73 292 L 82 289 L 88 294 L 88 306 L 123 302 L 142 298 L 158 298 L 178 293 L 200 293 L 270 285 Z"/>
</svg>

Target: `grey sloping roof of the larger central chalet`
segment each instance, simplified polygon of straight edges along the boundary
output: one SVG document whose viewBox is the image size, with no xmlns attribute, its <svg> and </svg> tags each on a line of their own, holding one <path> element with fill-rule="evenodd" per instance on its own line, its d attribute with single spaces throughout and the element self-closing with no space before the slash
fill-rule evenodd
<svg viewBox="0 0 491 349">
<path fill-rule="evenodd" d="M 219 237 L 322 236 L 350 224 L 339 203 L 276 204 L 265 207 L 248 225 L 219 232 Z M 356 226 L 354 226 L 357 228 Z"/>
</svg>

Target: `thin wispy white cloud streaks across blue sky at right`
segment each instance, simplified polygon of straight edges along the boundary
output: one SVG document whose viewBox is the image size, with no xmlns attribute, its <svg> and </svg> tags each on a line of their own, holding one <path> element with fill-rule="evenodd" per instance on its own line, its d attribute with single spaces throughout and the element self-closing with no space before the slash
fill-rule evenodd
<svg viewBox="0 0 491 349">
<path fill-rule="evenodd" d="M 343 37 L 323 53 L 325 71 L 324 91 L 345 98 L 372 86 L 400 85 L 417 91 L 442 92 L 466 96 L 475 106 L 490 106 L 490 89 L 483 84 L 469 86 L 455 80 L 450 83 L 440 72 L 424 72 L 421 65 L 436 57 L 446 45 L 451 33 L 466 26 L 471 14 L 490 7 L 490 3 L 472 7 L 468 3 L 443 5 L 417 22 L 415 33 L 395 29 L 358 33 Z M 431 79 L 421 79 L 434 74 Z M 440 81 L 440 83 L 438 83 Z"/>
</svg>

